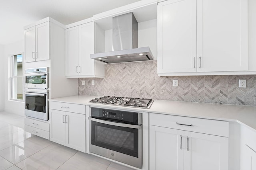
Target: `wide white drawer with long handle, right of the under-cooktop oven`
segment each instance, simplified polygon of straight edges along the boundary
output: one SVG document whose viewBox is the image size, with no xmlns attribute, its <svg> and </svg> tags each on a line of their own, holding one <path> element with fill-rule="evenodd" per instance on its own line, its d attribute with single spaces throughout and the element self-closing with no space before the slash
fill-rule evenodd
<svg viewBox="0 0 256 170">
<path fill-rule="evenodd" d="M 150 125 L 228 137 L 228 122 L 150 113 Z"/>
</svg>

